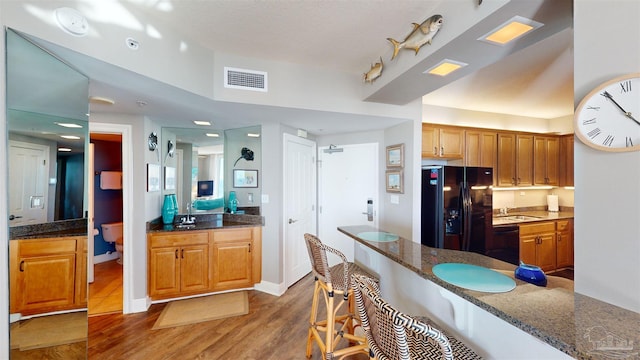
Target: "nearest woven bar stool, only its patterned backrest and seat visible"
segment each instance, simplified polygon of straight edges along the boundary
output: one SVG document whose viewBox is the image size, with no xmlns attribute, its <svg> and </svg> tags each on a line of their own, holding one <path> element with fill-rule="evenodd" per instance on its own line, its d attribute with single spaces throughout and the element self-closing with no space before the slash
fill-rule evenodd
<svg viewBox="0 0 640 360">
<path fill-rule="evenodd" d="M 412 317 L 380 297 L 380 288 L 367 276 L 352 278 L 369 359 L 482 359 L 458 339 L 433 326 L 431 319 Z"/>
</svg>

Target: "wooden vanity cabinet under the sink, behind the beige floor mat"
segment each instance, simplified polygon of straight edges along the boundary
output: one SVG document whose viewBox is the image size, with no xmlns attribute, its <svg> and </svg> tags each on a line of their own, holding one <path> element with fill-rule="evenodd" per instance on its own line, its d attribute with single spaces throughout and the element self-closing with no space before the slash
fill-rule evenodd
<svg viewBox="0 0 640 360">
<path fill-rule="evenodd" d="M 253 286 L 261 280 L 261 228 L 148 235 L 152 299 Z"/>
</svg>

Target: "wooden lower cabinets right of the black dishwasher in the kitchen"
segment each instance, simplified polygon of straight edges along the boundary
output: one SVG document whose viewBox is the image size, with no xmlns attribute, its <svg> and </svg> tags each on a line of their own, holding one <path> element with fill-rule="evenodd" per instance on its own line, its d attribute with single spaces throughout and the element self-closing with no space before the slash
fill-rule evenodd
<svg viewBox="0 0 640 360">
<path fill-rule="evenodd" d="M 543 271 L 573 266 L 573 220 L 521 224 L 520 261 Z"/>
</svg>

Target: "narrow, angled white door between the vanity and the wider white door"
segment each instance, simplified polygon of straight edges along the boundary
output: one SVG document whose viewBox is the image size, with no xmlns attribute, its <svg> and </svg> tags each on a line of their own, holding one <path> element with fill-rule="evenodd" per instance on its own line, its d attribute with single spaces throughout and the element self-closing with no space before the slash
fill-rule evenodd
<svg viewBox="0 0 640 360">
<path fill-rule="evenodd" d="M 284 282 L 286 287 L 311 271 L 304 234 L 315 234 L 316 143 L 284 134 Z"/>
</svg>

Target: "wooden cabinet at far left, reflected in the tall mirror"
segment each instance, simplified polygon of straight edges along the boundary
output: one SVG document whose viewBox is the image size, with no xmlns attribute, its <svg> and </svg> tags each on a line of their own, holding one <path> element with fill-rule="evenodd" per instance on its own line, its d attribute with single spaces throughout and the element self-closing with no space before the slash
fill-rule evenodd
<svg viewBox="0 0 640 360">
<path fill-rule="evenodd" d="M 86 307 L 86 237 L 11 240 L 9 252 L 11 313 Z"/>
</svg>

